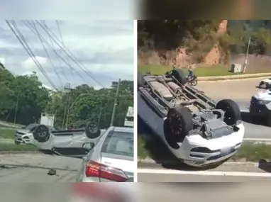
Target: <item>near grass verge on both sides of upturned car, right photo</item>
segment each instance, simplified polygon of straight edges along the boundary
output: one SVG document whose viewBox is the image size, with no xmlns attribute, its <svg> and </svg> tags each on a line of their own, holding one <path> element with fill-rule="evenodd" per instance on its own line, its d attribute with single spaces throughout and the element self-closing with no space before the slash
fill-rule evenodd
<svg viewBox="0 0 271 202">
<path fill-rule="evenodd" d="M 153 147 L 159 147 L 159 149 L 157 150 L 160 154 L 157 154 L 157 151 L 150 150 L 150 144 L 153 145 Z M 165 146 L 161 145 L 161 142 L 159 142 L 159 140 L 157 140 L 157 142 L 155 141 L 152 143 L 147 143 L 145 141 L 145 138 L 143 138 L 141 135 L 138 136 L 138 162 L 146 159 L 147 157 L 157 158 L 157 156 L 160 156 L 161 159 L 167 159 L 167 157 L 165 157 L 164 155 L 165 150 Z M 169 158 L 171 159 L 172 157 Z M 267 145 L 264 143 L 255 144 L 253 142 L 243 142 L 237 154 L 231 157 L 230 161 L 259 162 L 260 159 L 271 161 L 271 145 Z"/>
</svg>

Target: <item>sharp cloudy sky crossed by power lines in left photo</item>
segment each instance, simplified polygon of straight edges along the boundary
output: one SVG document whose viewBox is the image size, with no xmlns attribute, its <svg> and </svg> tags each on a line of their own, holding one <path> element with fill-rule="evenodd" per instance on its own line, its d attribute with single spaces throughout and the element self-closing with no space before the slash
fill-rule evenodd
<svg viewBox="0 0 271 202">
<path fill-rule="evenodd" d="M 39 22 L 43 27 L 48 26 L 53 39 L 37 22 L 15 21 L 16 28 L 55 86 L 66 83 L 76 86 L 87 82 L 99 88 L 101 85 L 110 86 L 111 81 L 118 78 L 133 79 L 133 21 L 58 21 L 60 30 L 57 21 Z M 65 47 L 88 73 L 62 50 Z M 50 86 L 6 21 L 0 23 L 0 61 L 14 74 L 37 72 L 43 84 Z"/>
</svg>

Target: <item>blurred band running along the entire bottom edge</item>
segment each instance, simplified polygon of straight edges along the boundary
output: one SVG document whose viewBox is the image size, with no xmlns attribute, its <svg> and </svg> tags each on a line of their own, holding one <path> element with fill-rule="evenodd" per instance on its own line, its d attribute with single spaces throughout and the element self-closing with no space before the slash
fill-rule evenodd
<svg viewBox="0 0 271 202">
<path fill-rule="evenodd" d="M 15 191 L 16 190 L 16 191 Z M 270 201 L 267 184 L 204 183 L 80 183 L 18 184 L 0 186 L 1 201 L 215 201 L 237 199 L 244 202 Z"/>
</svg>

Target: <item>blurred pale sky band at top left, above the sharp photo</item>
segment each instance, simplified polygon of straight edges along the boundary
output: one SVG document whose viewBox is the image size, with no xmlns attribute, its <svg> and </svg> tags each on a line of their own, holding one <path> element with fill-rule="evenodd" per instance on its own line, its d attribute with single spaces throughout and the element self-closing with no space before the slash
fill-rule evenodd
<svg viewBox="0 0 271 202">
<path fill-rule="evenodd" d="M 1 18 L 16 19 L 69 19 L 89 21 L 93 19 L 138 19 L 135 0 L 1 0 Z M 31 8 L 31 9 L 29 9 Z"/>
</svg>

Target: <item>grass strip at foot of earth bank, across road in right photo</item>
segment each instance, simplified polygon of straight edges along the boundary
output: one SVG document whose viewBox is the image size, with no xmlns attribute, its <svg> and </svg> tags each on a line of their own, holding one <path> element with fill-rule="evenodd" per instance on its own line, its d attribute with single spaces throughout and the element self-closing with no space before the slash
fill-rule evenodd
<svg viewBox="0 0 271 202">
<path fill-rule="evenodd" d="M 145 74 L 146 72 L 151 72 L 152 74 L 165 74 L 165 72 L 170 71 L 172 67 L 165 65 L 143 65 L 138 67 L 138 70 Z M 211 66 L 201 66 L 194 69 L 194 74 L 197 77 L 219 77 L 219 76 L 231 76 L 241 73 L 228 72 L 229 68 L 226 65 L 211 65 Z M 188 69 L 184 69 L 184 72 L 188 74 Z M 248 72 L 250 74 L 263 73 L 260 70 L 254 72 Z"/>
</svg>

